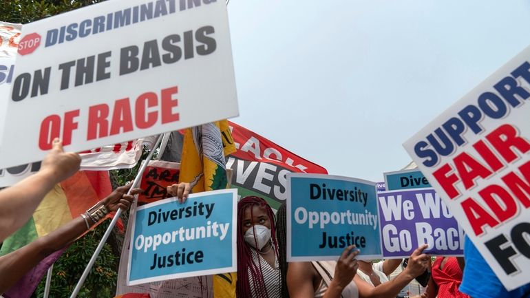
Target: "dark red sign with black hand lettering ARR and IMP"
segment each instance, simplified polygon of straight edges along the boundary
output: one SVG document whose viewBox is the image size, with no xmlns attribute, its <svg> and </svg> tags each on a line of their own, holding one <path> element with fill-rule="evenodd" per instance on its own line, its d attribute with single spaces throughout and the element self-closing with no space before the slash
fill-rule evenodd
<svg viewBox="0 0 530 298">
<path fill-rule="evenodd" d="M 178 183 L 180 163 L 149 160 L 140 181 L 138 204 L 149 204 L 167 198 L 167 187 Z"/>
</svg>

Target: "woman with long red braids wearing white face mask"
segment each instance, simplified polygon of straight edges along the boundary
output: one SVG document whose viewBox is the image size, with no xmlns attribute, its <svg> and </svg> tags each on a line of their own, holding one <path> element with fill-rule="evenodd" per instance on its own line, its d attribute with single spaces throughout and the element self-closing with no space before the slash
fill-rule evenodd
<svg viewBox="0 0 530 298">
<path fill-rule="evenodd" d="M 237 203 L 236 296 L 279 298 L 281 286 L 271 206 L 262 198 L 243 198 Z"/>
</svg>

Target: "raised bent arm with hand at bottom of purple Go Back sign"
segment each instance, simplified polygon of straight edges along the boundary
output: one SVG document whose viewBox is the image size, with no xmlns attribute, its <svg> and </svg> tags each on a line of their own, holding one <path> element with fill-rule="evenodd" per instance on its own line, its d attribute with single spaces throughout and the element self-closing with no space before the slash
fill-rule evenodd
<svg viewBox="0 0 530 298">
<path fill-rule="evenodd" d="M 410 259 L 405 268 L 395 279 L 387 281 L 374 287 L 363 281 L 359 276 L 354 277 L 355 284 L 359 288 L 359 297 L 361 298 L 394 298 L 399 294 L 402 288 L 405 288 L 407 284 L 412 281 L 418 275 L 421 275 L 427 270 L 429 256 L 423 253 L 427 248 L 427 244 L 416 248 L 416 250 L 410 255 Z"/>
</svg>

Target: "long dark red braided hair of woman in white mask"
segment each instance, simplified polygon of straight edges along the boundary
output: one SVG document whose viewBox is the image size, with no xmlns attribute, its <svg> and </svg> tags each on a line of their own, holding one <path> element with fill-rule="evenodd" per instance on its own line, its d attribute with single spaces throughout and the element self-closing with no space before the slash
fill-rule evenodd
<svg viewBox="0 0 530 298">
<path fill-rule="evenodd" d="M 278 244 L 276 242 L 276 231 L 274 224 L 274 213 L 271 206 L 262 198 L 249 196 L 242 198 L 237 203 L 237 284 L 235 286 L 236 296 L 238 298 L 252 297 L 268 298 L 265 281 L 262 274 L 262 266 L 259 262 L 255 264 L 252 259 L 251 248 L 246 244 L 243 233 L 243 217 L 246 209 L 250 208 L 251 217 L 253 217 L 253 207 L 260 206 L 266 210 L 268 220 L 271 222 L 271 241 L 273 242 L 275 254 L 278 254 Z M 249 276 L 250 273 L 250 276 Z M 253 290 L 249 278 L 253 281 Z"/>
</svg>

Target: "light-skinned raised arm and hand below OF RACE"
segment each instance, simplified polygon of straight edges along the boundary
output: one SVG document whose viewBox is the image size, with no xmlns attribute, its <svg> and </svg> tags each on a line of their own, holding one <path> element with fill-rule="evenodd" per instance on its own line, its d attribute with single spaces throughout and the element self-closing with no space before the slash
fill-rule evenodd
<svg viewBox="0 0 530 298">
<path fill-rule="evenodd" d="M 28 222 L 46 193 L 78 171 L 79 164 L 79 155 L 65 153 L 61 140 L 55 139 L 39 172 L 0 191 L 0 242 Z"/>
</svg>

